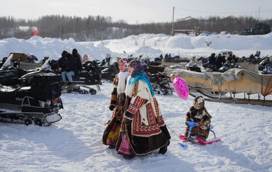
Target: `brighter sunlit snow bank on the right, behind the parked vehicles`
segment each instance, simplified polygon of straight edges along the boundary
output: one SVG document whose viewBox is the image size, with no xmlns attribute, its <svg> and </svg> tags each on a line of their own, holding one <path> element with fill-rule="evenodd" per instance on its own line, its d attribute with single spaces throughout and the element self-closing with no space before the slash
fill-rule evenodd
<svg viewBox="0 0 272 172">
<path fill-rule="evenodd" d="M 99 42 L 93 42 L 94 45 Z M 132 35 L 124 39 L 105 40 L 106 47 L 113 52 L 133 54 L 141 46 L 150 46 L 154 49 L 160 49 L 164 54 L 171 53 L 172 56 L 181 57 L 200 57 L 219 53 L 222 50 L 231 50 L 235 55 L 248 57 L 261 51 L 261 55 L 272 54 L 272 33 L 267 35 L 209 35 L 209 36 L 188 36 L 179 34 L 174 37 L 164 34 L 140 34 Z M 156 55 L 156 54 L 155 54 Z"/>
</svg>

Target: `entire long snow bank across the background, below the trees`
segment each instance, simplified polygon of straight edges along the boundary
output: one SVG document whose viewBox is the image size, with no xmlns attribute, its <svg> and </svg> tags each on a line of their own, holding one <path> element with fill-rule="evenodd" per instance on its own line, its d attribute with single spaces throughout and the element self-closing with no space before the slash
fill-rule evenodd
<svg viewBox="0 0 272 172">
<path fill-rule="evenodd" d="M 123 39 L 103 40 L 97 42 L 75 42 L 72 38 L 61 40 L 56 38 L 32 37 L 29 40 L 9 38 L 0 40 L 0 58 L 8 56 L 10 52 L 33 53 L 39 59 L 52 55 L 58 59 L 63 50 L 71 52 L 77 48 L 83 56 L 87 54 L 95 59 L 104 59 L 106 54 L 112 57 L 128 56 L 133 54 L 158 57 L 161 53 L 171 53 L 172 57 L 200 57 L 219 53 L 223 50 L 232 50 L 239 57 L 249 57 L 256 50 L 261 56 L 272 55 L 272 33 L 267 35 L 240 36 L 240 35 L 210 35 L 187 36 L 179 34 L 168 36 L 164 34 L 140 34 Z"/>
</svg>

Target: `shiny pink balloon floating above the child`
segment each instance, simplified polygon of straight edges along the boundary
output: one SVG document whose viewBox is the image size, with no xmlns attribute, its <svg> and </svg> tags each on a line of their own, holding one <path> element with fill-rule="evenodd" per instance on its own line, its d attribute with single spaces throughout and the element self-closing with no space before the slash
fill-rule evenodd
<svg viewBox="0 0 272 172">
<path fill-rule="evenodd" d="M 174 80 L 172 79 L 172 82 L 178 96 L 186 100 L 190 93 L 186 81 L 180 77 L 176 77 Z"/>
</svg>

